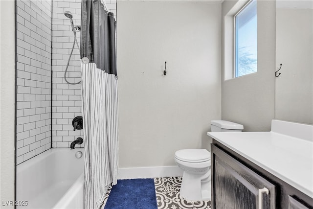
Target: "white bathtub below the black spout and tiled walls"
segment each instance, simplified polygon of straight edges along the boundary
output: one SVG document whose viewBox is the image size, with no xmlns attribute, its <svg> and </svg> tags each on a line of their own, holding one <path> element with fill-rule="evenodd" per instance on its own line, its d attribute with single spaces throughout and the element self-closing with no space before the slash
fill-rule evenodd
<svg viewBox="0 0 313 209">
<path fill-rule="evenodd" d="M 17 165 L 17 209 L 83 209 L 84 156 L 77 152 L 84 148 L 52 148 Z"/>
</svg>

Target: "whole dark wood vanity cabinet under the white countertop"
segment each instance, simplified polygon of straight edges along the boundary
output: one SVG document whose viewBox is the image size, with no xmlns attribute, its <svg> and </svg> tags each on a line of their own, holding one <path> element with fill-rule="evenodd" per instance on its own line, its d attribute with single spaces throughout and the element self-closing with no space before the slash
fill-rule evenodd
<svg viewBox="0 0 313 209">
<path fill-rule="evenodd" d="M 312 197 L 214 139 L 211 176 L 212 209 L 313 209 Z"/>
</svg>

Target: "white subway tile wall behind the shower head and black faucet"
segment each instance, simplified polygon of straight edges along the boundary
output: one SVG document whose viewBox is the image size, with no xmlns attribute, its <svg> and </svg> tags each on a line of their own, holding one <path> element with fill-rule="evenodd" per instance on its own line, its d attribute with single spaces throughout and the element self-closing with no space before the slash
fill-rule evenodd
<svg viewBox="0 0 313 209">
<path fill-rule="evenodd" d="M 108 9 L 116 14 L 116 1 L 104 1 Z M 53 0 L 52 1 L 52 147 L 69 147 L 77 137 L 83 137 L 83 130 L 73 131 L 72 119 L 82 116 L 81 84 L 69 85 L 64 80 L 67 60 L 73 46 L 74 36 L 70 21 L 64 15 L 65 11 L 73 14 L 74 25 L 80 25 L 81 0 Z M 80 43 L 80 31 L 76 33 Z M 79 50 L 75 46 L 69 67 L 67 80 L 78 82 L 81 80 Z M 76 145 L 75 147 L 82 147 Z"/>
</svg>

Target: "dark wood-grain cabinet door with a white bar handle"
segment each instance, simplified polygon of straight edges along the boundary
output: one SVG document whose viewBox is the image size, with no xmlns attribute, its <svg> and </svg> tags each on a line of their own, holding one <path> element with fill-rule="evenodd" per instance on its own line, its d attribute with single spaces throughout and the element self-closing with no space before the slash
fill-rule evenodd
<svg viewBox="0 0 313 209">
<path fill-rule="evenodd" d="M 275 186 L 211 145 L 212 209 L 275 209 Z"/>
</svg>

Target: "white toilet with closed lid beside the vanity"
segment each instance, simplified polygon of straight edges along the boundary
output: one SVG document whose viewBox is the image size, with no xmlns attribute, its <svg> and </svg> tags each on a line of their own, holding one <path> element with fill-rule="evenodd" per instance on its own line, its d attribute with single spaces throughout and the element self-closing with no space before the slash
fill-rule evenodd
<svg viewBox="0 0 313 209">
<path fill-rule="evenodd" d="M 211 132 L 241 132 L 244 126 L 226 120 L 212 120 Z M 206 149 L 181 149 L 175 162 L 183 170 L 180 196 L 189 201 L 211 200 L 211 154 Z"/>
</svg>

